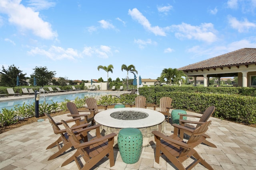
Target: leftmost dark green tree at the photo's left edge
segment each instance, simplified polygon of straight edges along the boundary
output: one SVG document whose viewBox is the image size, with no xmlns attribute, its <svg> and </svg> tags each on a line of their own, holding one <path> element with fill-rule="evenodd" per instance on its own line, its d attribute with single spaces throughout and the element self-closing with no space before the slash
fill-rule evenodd
<svg viewBox="0 0 256 170">
<path fill-rule="evenodd" d="M 2 86 L 8 86 L 8 87 L 14 87 L 16 86 L 16 78 L 17 76 L 20 78 L 20 80 L 25 80 L 26 73 L 22 74 L 22 70 L 19 70 L 19 67 L 17 68 L 12 64 L 11 66 L 8 66 L 8 69 L 5 69 L 4 66 L 2 66 L 2 70 L 0 71 L 2 74 L 1 76 L 1 85 Z"/>
</svg>

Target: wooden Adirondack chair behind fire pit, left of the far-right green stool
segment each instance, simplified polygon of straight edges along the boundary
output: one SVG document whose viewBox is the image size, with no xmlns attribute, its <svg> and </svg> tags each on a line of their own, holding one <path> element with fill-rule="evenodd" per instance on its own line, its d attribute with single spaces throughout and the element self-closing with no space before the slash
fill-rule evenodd
<svg viewBox="0 0 256 170">
<path fill-rule="evenodd" d="M 170 115 L 170 108 L 172 104 L 172 99 L 169 97 L 162 97 L 160 98 L 160 104 L 159 104 L 159 112 L 163 113 L 166 116 L 167 122 L 169 123 L 169 117 Z M 156 110 L 156 107 L 154 107 L 154 110 Z"/>
</svg>

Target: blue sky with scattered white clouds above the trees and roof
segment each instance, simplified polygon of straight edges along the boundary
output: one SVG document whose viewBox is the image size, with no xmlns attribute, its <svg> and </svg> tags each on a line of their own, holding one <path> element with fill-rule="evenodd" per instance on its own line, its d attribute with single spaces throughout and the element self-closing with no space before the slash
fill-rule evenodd
<svg viewBox="0 0 256 170">
<path fill-rule="evenodd" d="M 69 80 L 142 78 L 256 48 L 256 0 L 0 0 L 0 69 Z M 133 78 L 133 74 L 129 73 Z"/>
</svg>

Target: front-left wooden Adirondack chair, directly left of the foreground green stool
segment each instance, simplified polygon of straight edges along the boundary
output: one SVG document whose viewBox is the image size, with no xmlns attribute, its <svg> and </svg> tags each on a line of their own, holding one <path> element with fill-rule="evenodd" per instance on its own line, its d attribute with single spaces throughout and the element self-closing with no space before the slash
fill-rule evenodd
<svg viewBox="0 0 256 170">
<path fill-rule="evenodd" d="M 68 124 L 63 120 L 61 122 L 66 128 L 72 145 L 76 149 L 76 152 L 70 158 L 64 161 L 61 166 L 65 166 L 74 160 L 76 162 L 76 165 L 78 166 L 78 169 L 90 170 L 96 163 L 102 160 L 102 158 L 104 158 L 104 156 L 106 155 L 109 158 L 110 167 L 114 166 L 115 162 L 113 145 L 116 133 L 111 133 L 109 135 L 102 137 L 100 135 L 101 125 L 94 125 L 84 129 L 84 131 L 82 129 L 81 131 L 87 133 L 90 130 L 96 129 L 96 136 L 90 139 L 90 141 L 88 142 L 81 143 L 77 136 L 74 134 L 74 132 L 70 129 Z M 83 158 L 85 161 L 83 167 L 81 167 L 80 165 L 80 158 Z"/>
</svg>

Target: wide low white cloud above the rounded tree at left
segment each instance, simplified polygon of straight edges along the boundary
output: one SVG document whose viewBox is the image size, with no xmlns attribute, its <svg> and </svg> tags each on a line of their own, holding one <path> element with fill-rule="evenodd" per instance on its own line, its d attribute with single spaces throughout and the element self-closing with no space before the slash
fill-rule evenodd
<svg viewBox="0 0 256 170">
<path fill-rule="evenodd" d="M 46 56 L 52 60 L 62 60 L 62 59 L 70 59 L 74 60 L 75 58 L 80 57 L 80 54 L 75 49 L 68 48 L 64 49 L 62 47 L 57 47 L 52 45 L 50 49 L 47 51 L 44 49 L 40 49 L 38 47 L 35 47 L 28 51 L 29 55 L 42 55 Z"/>
</svg>

